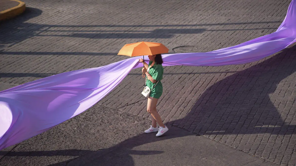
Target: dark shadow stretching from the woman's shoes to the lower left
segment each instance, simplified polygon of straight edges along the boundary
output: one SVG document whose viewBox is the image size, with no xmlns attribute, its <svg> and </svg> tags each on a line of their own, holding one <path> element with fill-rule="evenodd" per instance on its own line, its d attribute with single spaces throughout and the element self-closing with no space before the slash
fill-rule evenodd
<svg viewBox="0 0 296 166">
<path fill-rule="evenodd" d="M 143 135 L 143 134 L 141 134 Z M 85 165 L 86 162 L 91 162 L 91 165 L 134 165 L 133 159 L 131 157 L 132 154 L 135 155 L 152 155 L 152 154 L 161 154 L 163 151 L 151 151 L 151 150 L 132 150 L 133 147 L 137 147 L 143 144 L 161 141 L 164 139 L 176 138 L 176 135 L 171 134 L 162 138 L 156 138 L 155 134 L 152 136 L 150 134 L 149 137 L 136 136 L 134 138 L 123 141 L 120 144 L 112 146 L 110 148 L 91 151 L 91 150 L 78 150 L 78 149 L 69 149 L 69 150 L 54 150 L 54 151 L 32 151 L 32 152 L 9 152 L 7 156 L 76 156 L 79 157 L 75 159 L 74 165 Z M 123 151 L 120 153 L 120 157 L 114 155 L 116 150 L 120 149 Z M 114 152 L 114 153 L 113 153 Z M 1 152 L 0 152 L 1 154 Z M 109 154 L 109 155 L 104 155 Z M 113 158 L 110 158 L 113 157 Z M 59 162 L 56 164 L 51 164 L 48 166 L 61 166 L 66 165 L 68 162 L 72 160 L 68 160 L 65 162 Z M 89 165 L 89 164 L 87 164 Z"/>
</svg>

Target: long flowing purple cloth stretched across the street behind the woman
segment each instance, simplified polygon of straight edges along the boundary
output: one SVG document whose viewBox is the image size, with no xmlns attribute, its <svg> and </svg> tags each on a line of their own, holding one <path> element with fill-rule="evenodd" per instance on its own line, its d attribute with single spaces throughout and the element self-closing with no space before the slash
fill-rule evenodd
<svg viewBox="0 0 296 166">
<path fill-rule="evenodd" d="M 223 66 L 263 59 L 296 40 L 296 4 L 276 32 L 207 53 L 163 55 L 163 66 Z M 147 59 L 147 57 L 145 58 Z M 0 150 L 36 136 L 90 108 L 132 70 L 137 57 L 102 67 L 69 71 L 0 92 Z M 139 92 L 140 93 L 140 92 Z"/>
</svg>

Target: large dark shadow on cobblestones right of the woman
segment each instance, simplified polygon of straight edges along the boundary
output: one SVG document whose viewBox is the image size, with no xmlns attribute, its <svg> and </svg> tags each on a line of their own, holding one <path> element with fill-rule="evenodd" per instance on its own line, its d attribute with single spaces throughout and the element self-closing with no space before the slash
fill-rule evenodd
<svg viewBox="0 0 296 166">
<path fill-rule="evenodd" d="M 296 71 L 295 49 L 296 45 L 216 82 L 202 93 L 185 118 L 169 124 L 200 135 L 294 134 L 295 124 L 289 124 L 292 119 L 284 119 L 295 112 L 292 104 L 296 94 L 289 86 L 292 80 L 281 81 Z M 281 101 L 290 95 L 288 102 Z M 275 107 L 279 104 L 290 109 L 279 113 Z"/>
</svg>

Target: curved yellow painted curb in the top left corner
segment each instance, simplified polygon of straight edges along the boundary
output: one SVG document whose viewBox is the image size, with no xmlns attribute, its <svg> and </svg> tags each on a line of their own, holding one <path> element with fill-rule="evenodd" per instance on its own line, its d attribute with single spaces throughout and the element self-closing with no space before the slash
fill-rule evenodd
<svg viewBox="0 0 296 166">
<path fill-rule="evenodd" d="M 20 4 L 18 4 L 15 7 L 10 8 L 10 9 L 1 11 L 0 12 L 0 21 L 15 17 L 19 14 L 22 14 L 25 11 L 25 9 L 26 9 L 25 2 L 18 1 L 18 0 L 10 0 L 10 1 L 17 1 Z"/>
</svg>

